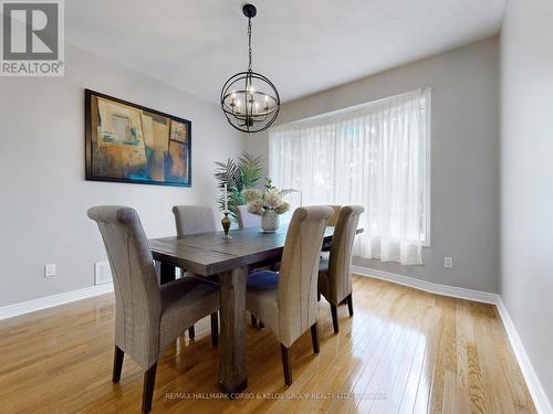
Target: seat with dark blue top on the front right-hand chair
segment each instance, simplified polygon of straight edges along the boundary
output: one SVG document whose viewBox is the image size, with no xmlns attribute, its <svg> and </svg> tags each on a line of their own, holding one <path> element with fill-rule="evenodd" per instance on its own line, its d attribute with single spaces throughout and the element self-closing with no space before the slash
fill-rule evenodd
<svg viewBox="0 0 553 414">
<path fill-rule="evenodd" d="M 248 276 L 246 308 L 279 338 L 279 274 L 262 270 Z"/>
</svg>

